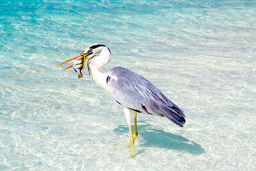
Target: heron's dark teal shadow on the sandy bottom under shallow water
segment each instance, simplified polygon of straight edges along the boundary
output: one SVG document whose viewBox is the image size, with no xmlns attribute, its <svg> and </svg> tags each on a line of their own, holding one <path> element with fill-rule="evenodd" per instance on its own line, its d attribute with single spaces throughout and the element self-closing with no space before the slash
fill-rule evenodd
<svg viewBox="0 0 256 171">
<path fill-rule="evenodd" d="M 127 133 L 128 126 L 120 125 L 115 128 L 114 131 L 119 134 Z M 187 151 L 193 155 L 205 152 L 200 144 L 196 144 L 196 142 L 190 141 L 180 135 L 153 129 L 150 124 L 138 125 L 138 132 L 139 136 L 146 141 L 146 143 L 142 145 L 153 145 L 159 148 Z"/>
</svg>

